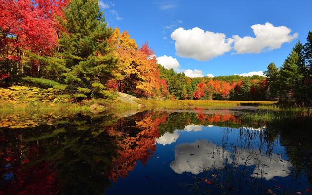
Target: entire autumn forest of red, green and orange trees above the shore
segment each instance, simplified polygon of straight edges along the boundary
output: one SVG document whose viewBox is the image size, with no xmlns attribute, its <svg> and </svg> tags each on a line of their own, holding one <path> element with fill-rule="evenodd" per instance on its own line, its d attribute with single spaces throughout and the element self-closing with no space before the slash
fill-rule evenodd
<svg viewBox="0 0 312 195">
<path fill-rule="evenodd" d="M 4 1 L 0 4 L 0 86 L 34 85 L 76 100 L 121 91 L 141 98 L 312 99 L 312 32 L 267 77 L 189 78 L 157 64 L 148 44 L 107 26 L 97 0 Z"/>
</svg>

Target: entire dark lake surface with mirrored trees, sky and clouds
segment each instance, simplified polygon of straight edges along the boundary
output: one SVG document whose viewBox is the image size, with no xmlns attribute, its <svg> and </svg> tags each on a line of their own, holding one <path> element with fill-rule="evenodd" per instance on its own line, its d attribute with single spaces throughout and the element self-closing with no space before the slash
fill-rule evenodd
<svg viewBox="0 0 312 195">
<path fill-rule="evenodd" d="M 311 120 L 244 117 L 255 112 L 145 111 L 0 127 L 0 195 L 311 194 Z"/>
</svg>

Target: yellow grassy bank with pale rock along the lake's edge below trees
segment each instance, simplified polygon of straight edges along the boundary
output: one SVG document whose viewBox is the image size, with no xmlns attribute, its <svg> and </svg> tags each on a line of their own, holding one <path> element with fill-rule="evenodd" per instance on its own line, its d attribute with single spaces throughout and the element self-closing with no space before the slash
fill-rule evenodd
<svg viewBox="0 0 312 195">
<path fill-rule="evenodd" d="M 0 88 L 0 119 L 17 116 L 26 120 L 42 116 L 51 120 L 76 115 L 97 116 L 99 114 L 113 114 L 117 117 L 127 117 L 139 111 L 152 109 L 179 110 L 208 110 L 231 109 L 240 106 L 254 107 L 260 110 L 292 111 L 310 113 L 305 107 L 287 107 L 276 105 L 276 101 L 217 101 L 217 100 L 164 100 L 139 99 L 120 92 L 113 93 L 110 98 L 90 98 L 78 101 L 71 94 L 48 88 L 12 86 L 8 89 Z M 307 112 L 308 111 L 308 112 Z M 310 114 L 309 114 L 310 115 Z M 3 125 L 3 124 L 2 124 Z"/>
</svg>

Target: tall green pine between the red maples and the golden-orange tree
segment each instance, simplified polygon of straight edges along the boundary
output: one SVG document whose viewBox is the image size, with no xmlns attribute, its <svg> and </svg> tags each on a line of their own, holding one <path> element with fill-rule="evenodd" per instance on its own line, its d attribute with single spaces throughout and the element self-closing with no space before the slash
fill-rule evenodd
<svg viewBox="0 0 312 195">
<path fill-rule="evenodd" d="M 65 82 L 72 86 L 91 87 L 112 78 L 117 59 L 109 55 L 107 39 L 112 29 L 107 27 L 98 0 L 72 0 L 64 10 L 66 29 L 59 40 L 61 56 L 70 71 Z"/>
</svg>

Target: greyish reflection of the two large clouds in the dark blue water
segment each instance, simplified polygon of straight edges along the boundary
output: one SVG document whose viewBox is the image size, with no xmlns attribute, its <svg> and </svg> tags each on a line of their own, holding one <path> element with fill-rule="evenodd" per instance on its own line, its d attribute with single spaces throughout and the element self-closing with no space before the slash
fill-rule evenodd
<svg viewBox="0 0 312 195">
<path fill-rule="evenodd" d="M 254 170 L 250 176 L 266 180 L 290 174 L 291 163 L 283 160 L 280 154 L 265 156 L 260 150 L 248 149 L 235 152 L 207 140 L 183 143 L 176 146 L 175 160 L 171 162 L 170 167 L 178 174 L 183 172 L 199 174 L 209 169 L 224 168 L 226 164 L 253 166 Z"/>
</svg>

